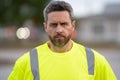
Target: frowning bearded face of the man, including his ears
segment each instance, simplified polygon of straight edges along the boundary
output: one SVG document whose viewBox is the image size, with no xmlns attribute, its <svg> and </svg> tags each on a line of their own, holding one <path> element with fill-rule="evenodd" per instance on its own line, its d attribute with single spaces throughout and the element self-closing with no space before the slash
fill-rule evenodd
<svg viewBox="0 0 120 80">
<path fill-rule="evenodd" d="M 52 44 L 63 47 L 71 38 L 75 21 L 71 21 L 67 11 L 55 11 L 48 14 L 48 20 L 44 23 Z"/>
</svg>

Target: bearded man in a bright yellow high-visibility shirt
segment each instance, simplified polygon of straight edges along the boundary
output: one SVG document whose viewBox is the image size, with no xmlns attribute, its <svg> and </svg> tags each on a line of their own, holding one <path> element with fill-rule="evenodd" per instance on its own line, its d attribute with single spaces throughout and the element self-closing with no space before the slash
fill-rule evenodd
<svg viewBox="0 0 120 80">
<path fill-rule="evenodd" d="M 8 80 L 116 80 L 102 55 L 71 40 L 75 20 L 69 3 L 50 2 L 44 18 L 50 40 L 20 57 Z"/>
</svg>

